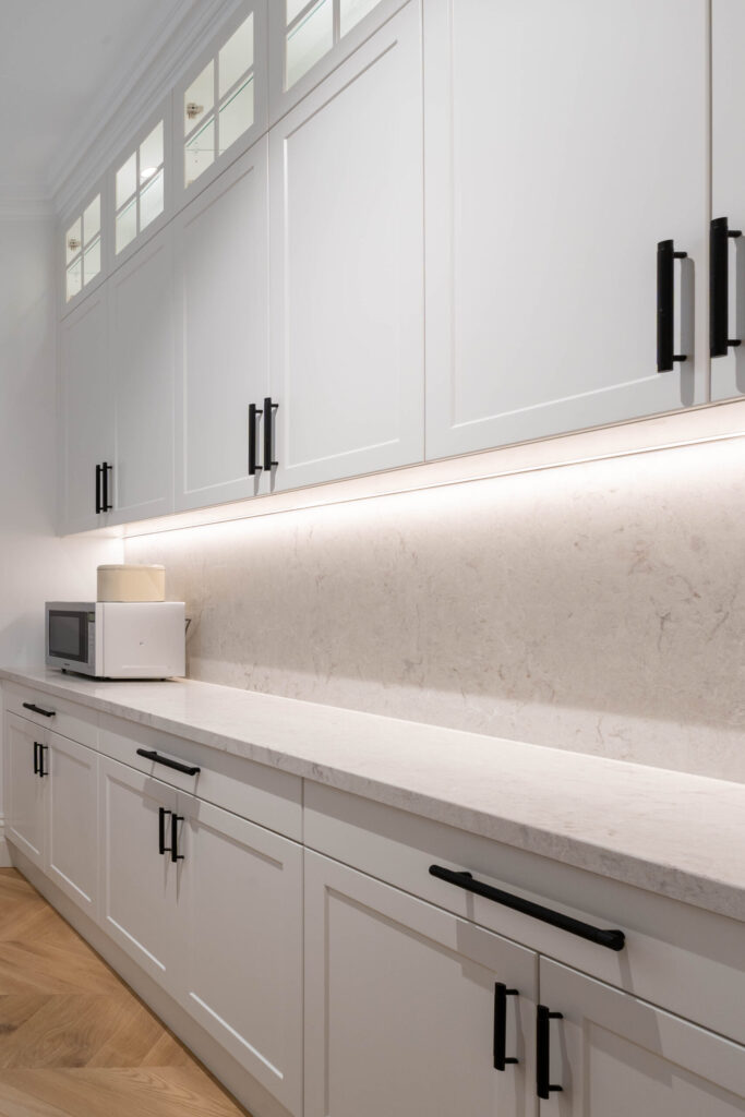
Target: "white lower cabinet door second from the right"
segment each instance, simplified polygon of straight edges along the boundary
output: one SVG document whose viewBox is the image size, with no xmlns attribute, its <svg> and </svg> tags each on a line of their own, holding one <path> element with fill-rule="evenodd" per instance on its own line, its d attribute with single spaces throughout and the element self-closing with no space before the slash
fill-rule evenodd
<svg viewBox="0 0 745 1117">
<path fill-rule="evenodd" d="M 534 1117 L 537 955 L 317 853 L 305 867 L 305 1117 Z"/>
</svg>

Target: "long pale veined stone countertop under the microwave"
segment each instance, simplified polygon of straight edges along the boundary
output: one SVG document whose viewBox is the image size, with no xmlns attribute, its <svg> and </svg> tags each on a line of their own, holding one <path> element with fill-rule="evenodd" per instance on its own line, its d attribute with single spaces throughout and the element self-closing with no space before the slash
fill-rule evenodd
<svg viewBox="0 0 745 1117">
<path fill-rule="evenodd" d="M 745 922 L 745 784 L 209 682 L 0 678 Z"/>
</svg>

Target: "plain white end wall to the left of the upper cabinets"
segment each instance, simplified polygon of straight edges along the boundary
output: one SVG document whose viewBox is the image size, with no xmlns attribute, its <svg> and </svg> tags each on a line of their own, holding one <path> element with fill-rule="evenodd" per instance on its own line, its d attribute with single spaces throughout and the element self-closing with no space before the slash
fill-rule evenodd
<svg viewBox="0 0 745 1117">
<path fill-rule="evenodd" d="M 60 540 L 54 229 L 0 216 L 0 663 L 44 661 L 46 600 L 95 600 L 117 540 Z M 0 785 L 1 791 L 1 785 Z M 1 799 L 0 799 L 1 802 Z M 0 848 L 0 856 L 1 856 Z"/>
</svg>

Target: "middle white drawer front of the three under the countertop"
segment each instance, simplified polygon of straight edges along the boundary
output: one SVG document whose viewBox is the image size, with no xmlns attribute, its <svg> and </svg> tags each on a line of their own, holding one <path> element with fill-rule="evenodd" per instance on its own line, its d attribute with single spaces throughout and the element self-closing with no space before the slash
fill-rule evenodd
<svg viewBox="0 0 745 1117">
<path fill-rule="evenodd" d="M 188 775 L 140 756 L 139 748 L 156 752 L 188 767 L 199 767 L 200 772 Z M 108 714 L 101 715 L 99 750 L 179 791 L 187 791 L 287 838 L 302 838 L 303 781 L 299 776 Z"/>
</svg>

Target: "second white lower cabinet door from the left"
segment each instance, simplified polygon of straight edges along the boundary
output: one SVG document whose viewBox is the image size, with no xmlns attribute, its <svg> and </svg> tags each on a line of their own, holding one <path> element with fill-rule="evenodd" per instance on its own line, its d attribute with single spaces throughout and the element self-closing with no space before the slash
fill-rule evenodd
<svg viewBox="0 0 745 1117">
<path fill-rule="evenodd" d="M 98 900 L 98 753 L 49 734 L 45 871 L 95 919 Z"/>
</svg>

